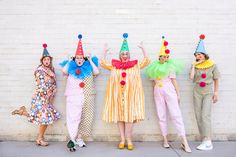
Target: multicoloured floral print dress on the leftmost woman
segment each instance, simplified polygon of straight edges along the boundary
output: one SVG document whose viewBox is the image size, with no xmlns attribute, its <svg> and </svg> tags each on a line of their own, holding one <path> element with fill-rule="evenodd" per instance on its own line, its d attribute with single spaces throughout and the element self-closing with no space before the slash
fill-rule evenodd
<svg viewBox="0 0 236 157">
<path fill-rule="evenodd" d="M 56 94 L 56 76 L 50 69 L 39 66 L 34 72 L 36 90 L 34 92 L 29 122 L 37 125 L 48 125 L 61 117 L 53 106 Z"/>
</svg>

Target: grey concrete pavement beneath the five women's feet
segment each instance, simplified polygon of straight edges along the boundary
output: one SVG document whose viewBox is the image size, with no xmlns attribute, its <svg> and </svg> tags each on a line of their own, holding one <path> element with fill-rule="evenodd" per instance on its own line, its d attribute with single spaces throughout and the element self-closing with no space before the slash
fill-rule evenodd
<svg viewBox="0 0 236 157">
<path fill-rule="evenodd" d="M 171 142 L 165 149 L 160 142 L 135 142 L 135 149 L 119 150 L 117 142 L 88 142 L 86 148 L 69 152 L 66 142 L 50 142 L 48 147 L 36 146 L 34 142 L 0 142 L 0 157 L 236 157 L 236 141 L 214 142 L 211 151 L 198 151 L 199 142 L 190 142 L 192 153 L 180 149 L 180 143 Z"/>
</svg>

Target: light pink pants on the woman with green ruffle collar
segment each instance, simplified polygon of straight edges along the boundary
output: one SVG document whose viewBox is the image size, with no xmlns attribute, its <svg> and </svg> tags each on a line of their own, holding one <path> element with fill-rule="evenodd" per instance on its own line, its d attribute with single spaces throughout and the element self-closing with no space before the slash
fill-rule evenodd
<svg viewBox="0 0 236 157">
<path fill-rule="evenodd" d="M 164 82 L 163 87 L 156 85 L 154 88 L 154 97 L 162 136 L 168 134 L 167 111 L 169 111 L 171 121 L 177 130 L 177 134 L 179 136 L 185 136 L 183 118 L 173 84 L 171 82 Z"/>
</svg>

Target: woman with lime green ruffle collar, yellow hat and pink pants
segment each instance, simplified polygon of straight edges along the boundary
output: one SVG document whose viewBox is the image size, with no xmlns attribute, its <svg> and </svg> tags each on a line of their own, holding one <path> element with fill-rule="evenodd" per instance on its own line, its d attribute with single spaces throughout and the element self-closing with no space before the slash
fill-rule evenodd
<svg viewBox="0 0 236 157">
<path fill-rule="evenodd" d="M 176 81 L 176 74 L 179 74 L 182 71 L 184 65 L 181 60 L 169 59 L 170 50 L 167 49 L 167 46 L 168 42 L 163 36 L 159 59 L 150 64 L 150 66 L 145 71 L 145 75 L 153 80 L 155 84 L 154 100 L 161 134 L 163 136 L 163 147 L 170 148 L 167 139 L 167 113 L 169 112 L 170 118 L 177 130 L 178 136 L 180 136 L 182 139 L 181 148 L 185 152 L 191 153 L 179 107 L 180 94 Z"/>
</svg>

